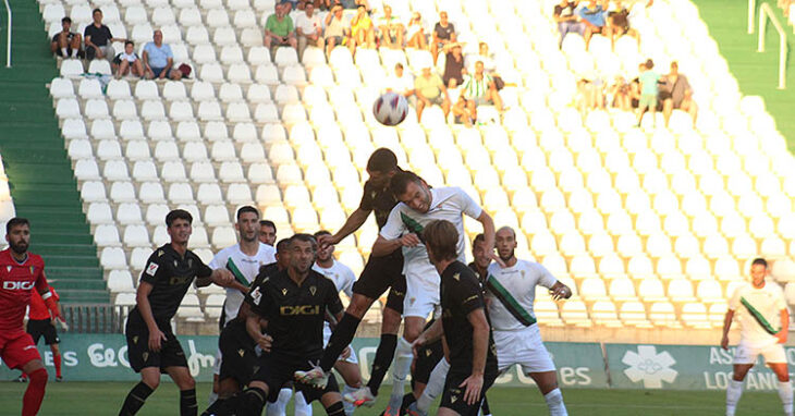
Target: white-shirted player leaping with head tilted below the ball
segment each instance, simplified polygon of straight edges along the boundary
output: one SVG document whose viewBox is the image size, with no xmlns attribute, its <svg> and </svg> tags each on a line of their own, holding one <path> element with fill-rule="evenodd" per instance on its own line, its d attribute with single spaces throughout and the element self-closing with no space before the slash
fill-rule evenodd
<svg viewBox="0 0 795 416">
<path fill-rule="evenodd" d="M 387 224 L 372 245 L 372 255 L 382 256 L 402 247 L 404 256 L 405 325 L 392 369 L 392 396 L 388 408 L 393 409 L 399 408 L 403 401 L 404 383 L 413 358 L 412 343 L 423 332 L 428 316 L 439 306 L 441 278 L 428 259 L 428 252 L 420 240 L 423 228 L 433 220 L 453 223 L 458 232 L 456 254 L 463 262 L 466 247 L 463 216 L 466 215 L 482 224 L 486 249 L 496 260 L 499 261 L 499 258 L 493 253 L 494 223 L 491 217 L 463 189 L 430 188 L 423 179 L 407 171 L 392 176 L 390 188 L 401 203 L 390 212 Z"/>
</svg>

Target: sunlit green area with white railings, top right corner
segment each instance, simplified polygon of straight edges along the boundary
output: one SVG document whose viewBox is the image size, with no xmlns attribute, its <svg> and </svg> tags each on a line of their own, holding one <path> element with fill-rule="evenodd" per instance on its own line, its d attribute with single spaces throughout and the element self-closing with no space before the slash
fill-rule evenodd
<svg viewBox="0 0 795 416">
<path fill-rule="evenodd" d="M 748 35 L 748 2 L 727 0 L 694 0 L 701 19 L 707 23 L 710 35 L 718 41 L 723 58 L 729 61 L 729 69 L 739 83 L 745 95 L 757 95 L 765 99 L 768 112 L 775 119 L 775 125 L 786 137 L 790 151 L 795 151 L 795 35 L 793 27 L 776 7 L 776 1 L 767 2 L 773 9 L 779 22 L 787 34 L 790 57 L 786 66 L 787 88 L 776 89 L 779 84 L 779 32 L 768 22 L 765 52 L 757 52 L 759 33 Z M 759 16 L 755 19 L 758 25 Z M 758 27 L 757 27 L 758 30 Z"/>
</svg>

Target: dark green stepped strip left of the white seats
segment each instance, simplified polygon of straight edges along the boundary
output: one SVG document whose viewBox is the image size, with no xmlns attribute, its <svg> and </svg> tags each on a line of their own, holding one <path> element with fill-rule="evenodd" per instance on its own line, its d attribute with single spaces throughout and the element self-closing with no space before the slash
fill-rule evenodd
<svg viewBox="0 0 795 416">
<path fill-rule="evenodd" d="M 0 16 L 0 156 L 17 216 L 32 222 L 30 250 L 64 303 L 108 303 L 102 269 L 86 222 L 46 84 L 58 76 L 38 4 L 11 0 L 13 66 L 5 68 L 5 10 Z"/>
</svg>

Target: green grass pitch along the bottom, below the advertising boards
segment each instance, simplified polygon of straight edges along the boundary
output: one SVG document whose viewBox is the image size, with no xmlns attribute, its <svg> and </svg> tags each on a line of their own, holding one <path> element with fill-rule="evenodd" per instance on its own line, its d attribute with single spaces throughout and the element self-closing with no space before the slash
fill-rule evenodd
<svg viewBox="0 0 795 416">
<path fill-rule="evenodd" d="M 63 382 L 48 384 L 41 416 L 114 415 L 133 383 L 120 382 Z M 22 394 L 26 384 L 0 383 L 0 413 L 20 414 Z M 198 384 L 199 408 L 206 404 L 210 386 Z M 381 399 L 372 408 L 362 408 L 357 415 L 378 415 L 386 405 L 390 391 L 383 389 Z M 489 402 L 496 416 L 547 414 L 540 393 L 528 388 L 499 388 L 489 390 Z M 722 391 L 638 391 L 638 390 L 564 390 L 563 396 L 572 415 L 722 415 Z M 778 415 L 781 404 L 774 392 L 746 392 L 737 415 Z M 172 383 L 163 383 L 152 394 L 139 415 L 176 415 L 178 392 Z M 292 414 L 292 408 L 288 414 Z M 316 415 L 325 412 L 316 405 Z"/>
</svg>

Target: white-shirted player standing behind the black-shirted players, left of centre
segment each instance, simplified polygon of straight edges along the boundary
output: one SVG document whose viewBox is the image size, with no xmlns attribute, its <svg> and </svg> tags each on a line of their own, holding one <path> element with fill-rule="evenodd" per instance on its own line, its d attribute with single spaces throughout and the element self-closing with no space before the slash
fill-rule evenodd
<svg viewBox="0 0 795 416">
<path fill-rule="evenodd" d="M 252 206 L 241 207 L 237 210 L 237 222 L 234 227 L 240 235 L 240 242 L 218 252 L 210 261 L 211 268 L 227 269 L 235 278 L 233 285 L 227 287 L 227 301 L 223 306 L 221 328 L 225 322 L 237 316 L 237 310 L 243 304 L 244 293 L 248 292 L 248 285 L 259 273 L 260 266 L 276 261 L 276 249 L 259 242 L 259 211 L 256 208 Z M 221 362 L 221 350 L 219 348 L 216 353 L 210 404 L 216 401 L 218 395 L 228 396 L 237 389 L 236 383 L 228 386 L 223 382 L 227 380 L 219 381 Z M 231 379 L 228 380 L 232 381 Z"/>
</svg>

